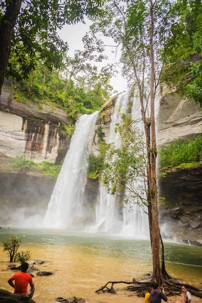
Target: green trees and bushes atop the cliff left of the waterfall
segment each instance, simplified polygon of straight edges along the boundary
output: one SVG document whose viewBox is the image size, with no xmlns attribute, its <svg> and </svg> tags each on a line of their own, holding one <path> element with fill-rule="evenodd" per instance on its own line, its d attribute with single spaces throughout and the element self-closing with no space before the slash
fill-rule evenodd
<svg viewBox="0 0 202 303">
<path fill-rule="evenodd" d="M 75 68 L 72 62 L 70 73 L 71 68 Z M 66 72 L 62 70 L 49 72 L 41 63 L 35 71 L 31 72 L 27 80 L 11 79 L 14 97 L 23 103 L 32 100 L 62 108 L 67 111 L 68 120 L 74 123 L 78 115 L 91 114 L 98 110 L 109 99 L 113 90 L 110 85 L 112 76 L 110 72 L 98 71 L 97 67 L 89 63 L 84 65 L 82 61 L 76 69 L 80 73 L 74 74 L 73 81 L 67 78 Z M 92 74 L 91 70 L 93 70 Z"/>
</svg>

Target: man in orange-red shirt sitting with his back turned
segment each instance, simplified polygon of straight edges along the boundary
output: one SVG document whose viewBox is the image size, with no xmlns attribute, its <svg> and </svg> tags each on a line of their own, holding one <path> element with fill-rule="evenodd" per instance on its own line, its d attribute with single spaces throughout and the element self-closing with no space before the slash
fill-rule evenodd
<svg viewBox="0 0 202 303">
<path fill-rule="evenodd" d="M 14 293 L 17 294 L 27 294 L 30 298 L 33 297 L 35 288 L 34 283 L 32 281 L 32 277 L 27 274 L 27 269 L 29 264 L 24 262 L 21 265 L 21 272 L 13 275 L 9 280 L 8 283 L 14 288 Z M 15 285 L 13 281 L 15 280 Z M 30 289 L 27 291 L 27 286 L 30 285 Z"/>
</svg>

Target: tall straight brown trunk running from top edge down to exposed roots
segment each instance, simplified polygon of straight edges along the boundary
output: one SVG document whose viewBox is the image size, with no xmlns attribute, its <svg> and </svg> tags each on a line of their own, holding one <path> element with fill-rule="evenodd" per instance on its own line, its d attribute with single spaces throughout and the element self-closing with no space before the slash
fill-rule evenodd
<svg viewBox="0 0 202 303">
<path fill-rule="evenodd" d="M 157 157 L 157 143 L 156 143 L 156 127 L 155 127 L 155 59 L 153 47 L 154 35 L 154 12 L 153 2 L 150 0 L 150 59 L 151 59 L 151 74 L 150 74 L 150 124 L 151 124 L 151 213 L 152 213 L 152 251 L 153 251 L 153 278 L 159 284 L 163 284 L 163 276 L 161 271 L 160 260 L 160 228 L 159 228 L 159 210 L 158 210 L 158 194 L 157 194 L 157 176 L 156 176 L 156 157 Z"/>
</svg>

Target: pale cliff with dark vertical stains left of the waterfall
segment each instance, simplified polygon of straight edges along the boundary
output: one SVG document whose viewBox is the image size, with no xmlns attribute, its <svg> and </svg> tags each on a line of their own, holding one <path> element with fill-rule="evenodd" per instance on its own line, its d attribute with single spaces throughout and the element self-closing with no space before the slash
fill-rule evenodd
<svg viewBox="0 0 202 303">
<path fill-rule="evenodd" d="M 60 131 L 62 122 L 67 122 L 65 111 L 45 104 L 39 107 L 36 103 L 16 102 L 9 89 L 4 88 L 0 96 L 1 153 L 59 164 L 70 143 Z"/>
</svg>

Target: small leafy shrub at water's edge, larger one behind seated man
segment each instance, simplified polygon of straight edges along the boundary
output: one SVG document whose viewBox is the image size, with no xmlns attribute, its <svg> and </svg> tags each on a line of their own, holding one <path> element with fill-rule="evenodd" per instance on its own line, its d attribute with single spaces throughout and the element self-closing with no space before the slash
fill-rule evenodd
<svg viewBox="0 0 202 303">
<path fill-rule="evenodd" d="M 22 243 L 22 238 L 12 236 L 6 238 L 3 242 L 3 251 L 7 251 L 7 255 L 10 257 L 10 262 L 13 262 L 15 255 L 17 254 L 18 248 Z"/>
</svg>

